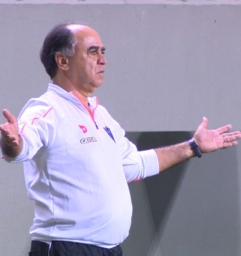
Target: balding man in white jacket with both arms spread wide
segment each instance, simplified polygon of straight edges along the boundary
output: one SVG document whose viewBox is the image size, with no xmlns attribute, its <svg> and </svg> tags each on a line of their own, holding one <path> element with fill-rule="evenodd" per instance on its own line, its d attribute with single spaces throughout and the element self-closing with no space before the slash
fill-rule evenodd
<svg viewBox="0 0 241 256">
<path fill-rule="evenodd" d="M 153 176 L 191 157 L 235 146 L 231 125 L 208 130 L 207 118 L 191 140 L 137 151 L 93 91 L 103 83 L 104 45 L 93 29 L 74 23 L 54 27 L 41 60 L 52 83 L 31 99 L 17 119 L 4 110 L 1 151 L 24 162 L 35 203 L 29 255 L 122 255 L 131 225 L 128 182 Z"/>
</svg>

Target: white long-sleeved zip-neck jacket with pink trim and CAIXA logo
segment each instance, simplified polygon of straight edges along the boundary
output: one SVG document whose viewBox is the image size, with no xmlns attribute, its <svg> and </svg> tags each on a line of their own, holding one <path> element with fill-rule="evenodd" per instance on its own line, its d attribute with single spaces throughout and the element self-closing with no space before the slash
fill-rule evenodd
<svg viewBox="0 0 241 256">
<path fill-rule="evenodd" d="M 128 182 L 158 173 L 154 150 L 137 151 L 96 97 L 91 111 L 52 83 L 18 118 L 23 162 L 39 241 L 75 241 L 110 248 L 129 234 Z"/>
</svg>

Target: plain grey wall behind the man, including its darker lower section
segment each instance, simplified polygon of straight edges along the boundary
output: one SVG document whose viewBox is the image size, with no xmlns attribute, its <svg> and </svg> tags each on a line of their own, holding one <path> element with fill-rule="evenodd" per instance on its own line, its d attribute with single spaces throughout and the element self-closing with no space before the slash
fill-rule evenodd
<svg viewBox="0 0 241 256">
<path fill-rule="evenodd" d="M 210 128 L 230 122 L 240 129 L 240 1 L 14 2 L 0 1 L 1 109 L 17 116 L 45 91 L 42 41 L 56 23 L 73 19 L 102 36 L 108 65 L 96 94 L 140 149 L 190 138 L 202 116 Z M 240 255 L 240 150 L 130 184 L 134 216 L 125 256 Z M 22 165 L 1 161 L 0 170 L 0 255 L 27 255 L 34 208 Z"/>
</svg>

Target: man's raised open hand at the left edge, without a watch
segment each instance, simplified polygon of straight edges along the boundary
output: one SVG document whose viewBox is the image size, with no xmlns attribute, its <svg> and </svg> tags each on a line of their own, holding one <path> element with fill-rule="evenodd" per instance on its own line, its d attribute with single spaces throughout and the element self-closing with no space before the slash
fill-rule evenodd
<svg viewBox="0 0 241 256">
<path fill-rule="evenodd" d="M 3 110 L 3 114 L 7 121 L 0 125 L 1 150 L 8 157 L 16 157 L 23 148 L 22 138 L 18 134 L 18 121 L 7 109 Z"/>
</svg>

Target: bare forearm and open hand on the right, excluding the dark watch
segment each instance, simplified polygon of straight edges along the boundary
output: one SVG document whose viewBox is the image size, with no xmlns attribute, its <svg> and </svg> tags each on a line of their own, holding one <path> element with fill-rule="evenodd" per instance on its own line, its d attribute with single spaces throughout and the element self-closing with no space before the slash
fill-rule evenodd
<svg viewBox="0 0 241 256">
<path fill-rule="evenodd" d="M 231 124 L 218 129 L 207 129 L 207 118 L 203 118 L 202 124 L 194 133 L 194 140 L 202 153 L 209 153 L 219 148 L 228 148 L 237 145 L 237 140 L 241 138 L 241 132 L 229 132 L 232 129 Z M 189 143 L 183 142 L 173 146 L 156 148 L 160 173 L 169 167 L 179 164 L 195 156 Z"/>
</svg>

